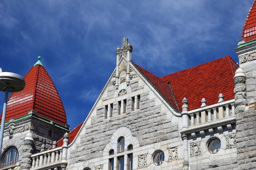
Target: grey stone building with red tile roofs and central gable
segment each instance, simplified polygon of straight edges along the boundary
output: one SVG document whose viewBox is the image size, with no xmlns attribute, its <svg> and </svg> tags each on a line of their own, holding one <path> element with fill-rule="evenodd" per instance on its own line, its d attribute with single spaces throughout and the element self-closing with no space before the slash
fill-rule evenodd
<svg viewBox="0 0 256 170">
<path fill-rule="evenodd" d="M 256 0 L 234 49 L 239 65 L 225 56 L 157 77 L 132 62 L 124 38 L 88 117 L 69 133 L 38 60 L 9 98 L 1 169 L 256 169 L 255 13 Z"/>
</svg>

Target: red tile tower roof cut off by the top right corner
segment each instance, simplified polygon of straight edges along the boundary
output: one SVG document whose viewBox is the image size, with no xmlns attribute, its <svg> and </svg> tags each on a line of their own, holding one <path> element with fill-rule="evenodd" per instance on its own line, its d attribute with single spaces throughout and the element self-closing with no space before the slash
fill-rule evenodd
<svg viewBox="0 0 256 170">
<path fill-rule="evenodd" d="M 242 39 L 245 42 L 256 38 L 256 0 L 254 0 L 252 7 L 246 17 L 245 24 L 242 32 Z"/>
</svg>

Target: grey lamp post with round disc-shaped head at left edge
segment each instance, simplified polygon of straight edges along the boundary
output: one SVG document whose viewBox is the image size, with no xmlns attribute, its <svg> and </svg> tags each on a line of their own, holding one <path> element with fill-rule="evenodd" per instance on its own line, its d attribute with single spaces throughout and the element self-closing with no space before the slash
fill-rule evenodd
<svg viewBox="0 0 256 170">
<path fill-rule="evenodd" d="M 25 87 L 25 79 L 16 73 L 2 72 L 0 68 L 0 91 L 5 91 L 2 122 L 0 128 L 0 154 L 2 152 L 2 141 L 4 137 L 4 123 L 7 108 L 8 92 L 22 91 Z"/>
</svg>

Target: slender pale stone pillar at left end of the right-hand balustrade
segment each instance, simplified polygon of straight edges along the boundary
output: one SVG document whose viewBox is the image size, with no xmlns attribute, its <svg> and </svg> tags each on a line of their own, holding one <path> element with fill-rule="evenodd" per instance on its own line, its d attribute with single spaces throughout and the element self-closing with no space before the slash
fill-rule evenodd
<svg viewBox="0 0 256 170">
<path fill-rule="evenodd" d="M 182 130 L 185 130 L 189 127 L 189 106 L 188 100 L 186 97 L 182 100 Z M 183 162 L 183 170 L 189 169 L 189 142 L 186 134 L 182 134 L 183 140 L 183 153 L 184 153 L 184 162 Z"/>
</svg>

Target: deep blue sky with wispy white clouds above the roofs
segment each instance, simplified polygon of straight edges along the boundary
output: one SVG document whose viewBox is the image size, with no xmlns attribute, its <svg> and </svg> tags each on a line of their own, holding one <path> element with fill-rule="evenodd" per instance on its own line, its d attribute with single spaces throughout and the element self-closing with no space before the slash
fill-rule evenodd
<svg viewBox="0 0 256 170">
<path fill-rule="evenodd" d="M 1 0 L 0 67 L 24 76 L 41 62 L 71 130 L 115 69 L 125 36 L 132 61 L 161 77 L 233 51 L 253 0 Z M 4 92 L 0 93 L 0 109 Z"/>
</svg>

